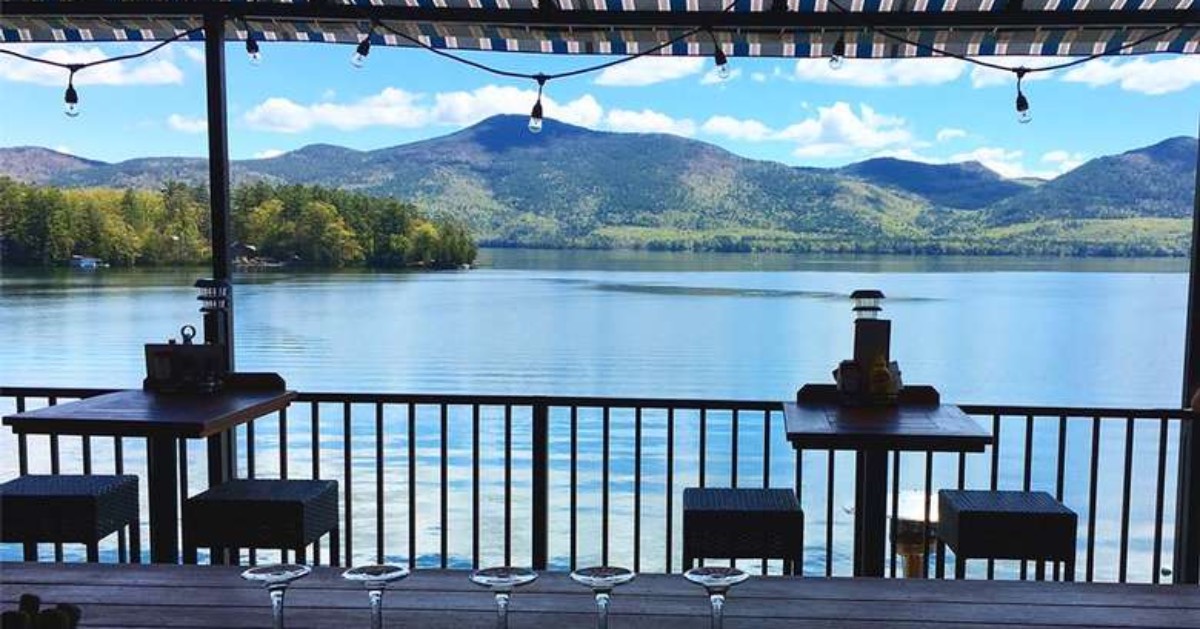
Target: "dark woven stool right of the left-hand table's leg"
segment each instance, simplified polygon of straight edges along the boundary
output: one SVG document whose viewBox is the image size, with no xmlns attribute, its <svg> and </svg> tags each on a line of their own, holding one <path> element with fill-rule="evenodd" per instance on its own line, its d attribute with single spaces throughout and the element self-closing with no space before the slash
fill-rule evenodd
<svg viewBox="0 0 1200 629">
<path fill-rule="evenodd" d="M 230 480 L 184 502 L 184 562 L 196 549 L 305 549 L 329 533 L 338 562 L 336 480 Z"/>
</svg>

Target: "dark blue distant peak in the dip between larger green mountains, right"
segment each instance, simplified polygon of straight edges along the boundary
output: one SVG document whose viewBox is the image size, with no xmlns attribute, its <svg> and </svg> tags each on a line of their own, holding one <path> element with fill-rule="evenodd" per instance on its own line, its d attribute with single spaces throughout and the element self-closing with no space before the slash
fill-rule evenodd
<svg viewBox="0 0 1200 629">
<path fill-rule="evenodd" d="M 878 157 L 839 172 L 865 181 L 924 197 L 935 205 L 977 210 L 1006 199 L 1028 186 L 1000 176 L 979 162 L 922 163 Z"/>
</svg>

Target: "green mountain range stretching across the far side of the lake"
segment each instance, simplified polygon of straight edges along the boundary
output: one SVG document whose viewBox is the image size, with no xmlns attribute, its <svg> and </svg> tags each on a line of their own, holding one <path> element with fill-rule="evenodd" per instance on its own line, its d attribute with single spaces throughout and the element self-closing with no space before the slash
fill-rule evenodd
<svg viewBox="0 0 1200 629">
<path fill-rule="evenodd" d="M 1006 180 L 977 162 L 877 158 L 796 168 L 676 136 L 553 120 L 532 134 L 523 116 L 494 116 L 385 149 L 317 144 L 238 161 L 233 178 L 413 200 L 466 221 L 492 245 L 1182 253 L 1195 142 L 1172 138 L 1100 157 L 1051 181 Z M 157 187 L 202 182 L 208 170 L 198 158 L 103 163 L 18 148 L 0 149 L 5 174 L 62 186 Z"/>
</svg>

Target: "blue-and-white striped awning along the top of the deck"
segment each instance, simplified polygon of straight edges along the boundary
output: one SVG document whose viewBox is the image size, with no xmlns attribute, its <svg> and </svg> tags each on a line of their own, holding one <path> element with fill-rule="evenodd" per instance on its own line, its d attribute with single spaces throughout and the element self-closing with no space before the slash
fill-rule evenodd
<svg viewBox="0 0 1200 629">
<path fill-rule="evenodd" d="M 542 0 L 546 1 L 546 0 Z M 390 29 L 443 49 L 731 56 L 1074 56 L 1122 50 L 1200 52 L 1195 0 L 5 0 L 0 42 L 161 41 L 222 12 L 228 40 L 413 46 Z M 727 11 L 726 11 L 727 8 Z M 845 10 L 845 11 L 844 11 Z M 203 40 L 196 32 L 190 38 Z"/>
</svg>

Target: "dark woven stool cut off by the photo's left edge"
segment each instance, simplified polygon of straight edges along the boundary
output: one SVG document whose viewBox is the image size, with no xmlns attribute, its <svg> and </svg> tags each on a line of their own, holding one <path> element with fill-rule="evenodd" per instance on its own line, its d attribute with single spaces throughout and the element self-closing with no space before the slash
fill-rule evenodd
<svg viewBox="0 0 1200 629">
<path fill-rule="evenodd" d="M 24 544 L 26 562 L 37 561 L 40 543 L 84 544 L 98 562 L 100 540 L 126 526 L 137 563 L 138 477 L 25 475 L 0 485 L 0 541 Z"/>
</svg>

